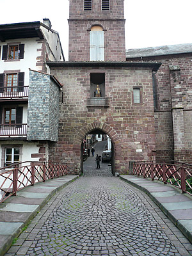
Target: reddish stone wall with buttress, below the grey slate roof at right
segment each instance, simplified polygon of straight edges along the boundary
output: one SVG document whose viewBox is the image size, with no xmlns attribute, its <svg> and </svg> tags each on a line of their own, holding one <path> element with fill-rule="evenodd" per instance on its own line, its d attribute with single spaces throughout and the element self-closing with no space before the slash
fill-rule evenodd
<svg viewBox="0 0 192 256">
<path fill-rule="evenodd" d="M 143 58 L 143 60 L 163 62 L 156 75 L 158 99 L 155 114 L 156 159 L 174 158 L 177 161 L 192 163 L 191 59 L 191 53 Z M 173 74 L 173 77 L 170 77 L 169 66 L 180 67 L 180 71 L 177 72 L 179 77 L 174 77 L 175 74 Z M 180 111 L 174 109 L 175 105 L 181 106 Z M 184 135 L 182 135 L 182 132 Z"/>
</svg>

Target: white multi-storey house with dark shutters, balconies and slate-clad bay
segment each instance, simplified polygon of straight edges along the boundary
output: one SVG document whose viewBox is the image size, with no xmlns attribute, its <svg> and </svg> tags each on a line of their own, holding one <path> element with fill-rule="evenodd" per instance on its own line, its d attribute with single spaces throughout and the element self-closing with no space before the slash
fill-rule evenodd
<svg viewBox="0 0 192 256">
<path fill-rule="evenodd" d="M 47 161 L 49 141 L 58 141 L 61 84 L 48 60 L 65 60 L 49 19 L 0 25 L 1 167 Z"/>
</svg>

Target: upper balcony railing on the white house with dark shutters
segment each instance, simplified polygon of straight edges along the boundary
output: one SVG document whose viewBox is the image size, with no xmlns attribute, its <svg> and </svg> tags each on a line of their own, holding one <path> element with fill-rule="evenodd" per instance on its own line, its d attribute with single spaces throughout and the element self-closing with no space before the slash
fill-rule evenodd
<svg viewBox="0 0 192 256">
<path fill-rule="evenodd" d="M 22 99 L 28 97 L 29 86 L 7 86 L 0 87 L 1 99 Z"/>
</svg>

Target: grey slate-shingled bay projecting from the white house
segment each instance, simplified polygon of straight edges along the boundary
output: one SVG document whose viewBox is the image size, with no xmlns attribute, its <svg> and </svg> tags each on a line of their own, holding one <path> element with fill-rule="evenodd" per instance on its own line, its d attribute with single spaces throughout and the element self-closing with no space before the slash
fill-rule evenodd
<svg viewBox="0 0 192 256">
<path fill-rule="evenodd" d="M 59 93 L 49 75 L 30 70 L 28 140 L 58 141 Z"/>
</svg>

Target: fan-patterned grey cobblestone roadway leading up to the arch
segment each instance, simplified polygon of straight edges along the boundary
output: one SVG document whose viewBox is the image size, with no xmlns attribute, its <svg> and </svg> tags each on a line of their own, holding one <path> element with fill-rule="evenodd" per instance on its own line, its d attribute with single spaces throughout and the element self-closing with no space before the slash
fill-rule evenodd
<svg viewBox="0 0 192 256">
<path fill-rule="evenodd" d="M 188 240 L 145 193 L 115 177 L 81 177 L 45 205 L 6 256 L 191 252 Z"/>
</svg>

